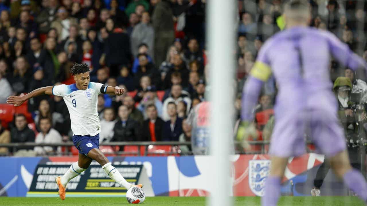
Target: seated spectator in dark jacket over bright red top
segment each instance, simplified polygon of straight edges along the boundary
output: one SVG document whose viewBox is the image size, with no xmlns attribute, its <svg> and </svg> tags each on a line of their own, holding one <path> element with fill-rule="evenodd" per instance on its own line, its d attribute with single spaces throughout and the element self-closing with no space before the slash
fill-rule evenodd
<svg viewBox="0 0 367 206">
<path fill-rule="evenodd" d="M 158 117 L 156 106 L 149 104 L 146 106 L 145 112 L 148 119 L 143 122 L 142 141 L 162 141 L 164 121 Z"/>
</svg>

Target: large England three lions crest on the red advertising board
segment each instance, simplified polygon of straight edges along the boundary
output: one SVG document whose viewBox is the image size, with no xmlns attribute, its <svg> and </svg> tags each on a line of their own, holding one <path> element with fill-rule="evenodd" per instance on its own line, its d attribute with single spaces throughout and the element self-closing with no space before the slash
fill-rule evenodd
<svg viewBox="0 0 367 206">
<path fill-rule="evenodd" d="M 270 160 L 250 160 L 248 162 L 248 185 L 257 196 L 264 195 L 265 180 L 269 175 Z"/>
</svg>

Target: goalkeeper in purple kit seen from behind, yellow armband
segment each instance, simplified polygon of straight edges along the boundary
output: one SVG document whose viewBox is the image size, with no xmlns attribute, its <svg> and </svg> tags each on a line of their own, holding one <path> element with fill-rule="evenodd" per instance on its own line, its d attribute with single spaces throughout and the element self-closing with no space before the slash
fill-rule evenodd
<svg viewBox="0 0 367 206">
<path fill-rule="evenodd" d="M 284 7 L 284 16 L 287 29 L 266 41 L 259 51 L 242 100 L 241 126 L 246 139 L 247 131 L 254 127 L 252 111 L 263 82 L 273 74 L 279 92 L 262 206 L 277 205 L 287 160 L 305 152 L 306 131 L 330 159 L 334 173 L 367 201 L 366 181 L 349 163 L 328 70 L 331 55 L 352 70 L 366 69 L 367 64 L 330 32 L 308 27 L 311 15 L 307 1 L 290 1 Z"/>
</svg>

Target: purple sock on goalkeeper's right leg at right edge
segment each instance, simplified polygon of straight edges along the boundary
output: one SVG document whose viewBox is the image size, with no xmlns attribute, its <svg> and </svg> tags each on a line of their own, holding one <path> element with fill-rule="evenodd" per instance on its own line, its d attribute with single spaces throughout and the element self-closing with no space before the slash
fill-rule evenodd
<svg viewBox="0 0 367 206">
<path fill-rule="evenodd" d="M 367 183 L 360 172 L 351 169 L 344 174 L 343 180 L 364 202 L 367 201 Z"/>
</svg>

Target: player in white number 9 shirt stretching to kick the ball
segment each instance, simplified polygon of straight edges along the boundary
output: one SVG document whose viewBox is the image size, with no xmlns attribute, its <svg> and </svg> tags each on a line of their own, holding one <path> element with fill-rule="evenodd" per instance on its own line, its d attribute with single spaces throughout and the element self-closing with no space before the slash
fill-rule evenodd
<svg viewBox="0 0 367 206">
<path fill-rule="evenodd" d="M 98 148 L 99 132 L 101 132 L 97 113 L 98 95 L 101 93 L 122 95 L 124 89 L 90 82 L 89 66 L 85 63 L 75 63 L 70 73 L 74 75 L 75 84 L 42 87 L 24 96 L 10 96 L 7 100 L 9 104 L 20 106 L 30 98 L 47 94 L 62 96 L 68 106 L 71 129 L 73 131 L 73 143 L 79 150 L 79 159 L 70 166 L 68 172 L 62 177 L 56 177 L 55 179 L 59 186 L 60 198 L 62 200 L 65 199 L 65 189 L 68 182 L 87 170 L 92 160 L 97 161 L 105 170 L 107 176 L 126 189 L 132 186 L 142 187 L 141 184 L 132 185 L 128 183 Z"/>
</svg>

